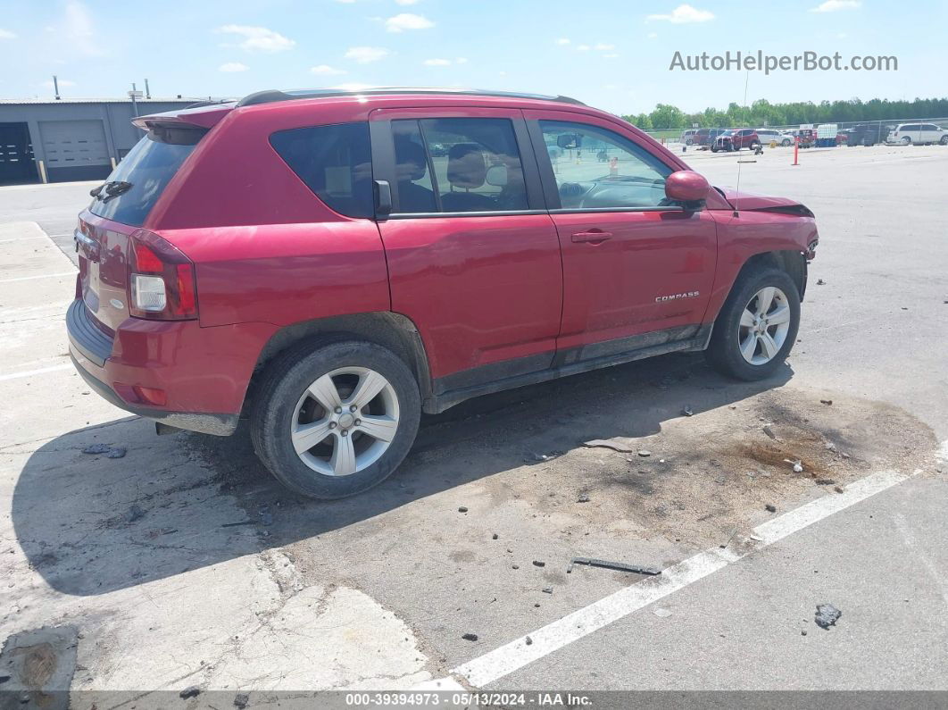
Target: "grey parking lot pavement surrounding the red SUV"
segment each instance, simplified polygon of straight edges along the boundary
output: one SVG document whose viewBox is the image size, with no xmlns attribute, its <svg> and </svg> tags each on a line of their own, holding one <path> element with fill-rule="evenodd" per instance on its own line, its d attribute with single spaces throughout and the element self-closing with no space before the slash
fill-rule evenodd
<svg viewBox="0 0 948 710">
<path fill-rule="evenodd" d="M 0 188 L 0 640 L 59 629 L 74 690 L 948 689 L 948 148 L 792 153 L 685 155 L 817 215 L 775 379 L 667 355 L 467 402 L 332 503 L 90 393 L 91 185 Z"/>
</svg>

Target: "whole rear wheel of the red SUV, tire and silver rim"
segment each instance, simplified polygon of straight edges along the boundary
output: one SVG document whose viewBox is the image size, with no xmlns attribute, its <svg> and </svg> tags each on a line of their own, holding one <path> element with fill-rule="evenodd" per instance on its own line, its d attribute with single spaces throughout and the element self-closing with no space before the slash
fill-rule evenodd
<svg viewBox="0 0 948 710">
<path fill-rule="evenodd" d="M 260 383 L 250 434 L 260 460 L 303 496 L 336 499 L 384 481 L 421 418 L 418 384 L 389 350 L 359 340 L 291 349 Z"/>
</svg>

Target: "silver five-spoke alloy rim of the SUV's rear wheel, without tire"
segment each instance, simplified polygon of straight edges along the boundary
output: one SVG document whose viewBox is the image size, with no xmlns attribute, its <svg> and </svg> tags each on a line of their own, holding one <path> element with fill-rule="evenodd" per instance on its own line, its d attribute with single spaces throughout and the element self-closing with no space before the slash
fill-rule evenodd
<svg viewBox="0 0 948 710">
<path fill-rule="evenodd" d="M 324 476 L 351 476 L 374 464 L 398 428 L 398 397 L 382 374 L 339 368 L 319 377 L 297 402 L 293 448 Z"/>
</svg>

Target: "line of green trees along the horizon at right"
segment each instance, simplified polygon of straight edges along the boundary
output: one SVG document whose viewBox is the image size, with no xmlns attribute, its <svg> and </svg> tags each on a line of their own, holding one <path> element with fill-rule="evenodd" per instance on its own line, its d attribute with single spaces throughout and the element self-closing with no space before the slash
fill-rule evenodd
<svg viewBox="0 0 948 710">
<path fill-rule="evenodd" d="M 795 101 L 771 103 L 758 99 L 750 106 L 731 102 L 726 111 L 706 108 L 697 114 L 686 114 L 677 106 L 659 103 L 649 114 L 623 116 L 643 131 L 665 128 L 730 128 L 738 126 L 787 126 L 799 123 L 829 123 L 858 120 L 889 120 L 892 118 L 940 118 L 948 116 L 948 99 L 916 99 L 912 101 L 872 99 L 862 101 Z"/>
</svg>

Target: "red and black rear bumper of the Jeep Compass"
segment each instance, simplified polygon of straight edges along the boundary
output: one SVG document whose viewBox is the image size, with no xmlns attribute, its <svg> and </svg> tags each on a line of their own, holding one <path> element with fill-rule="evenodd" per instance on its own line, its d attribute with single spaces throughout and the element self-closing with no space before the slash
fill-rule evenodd
<svg viewBox="0 0 948 710">
<path fill-rule="evenodd" d="M 81 299 L 66 313 L 69 354 L 88 385 L 116 407 L 226 436 L 237 428 L 247 384 L 270 328 L 201 328 L 196 320 L 126 319 L 113 337 Z M 158 406 L 141 388 L 164 393 Z"/>
</svg>

